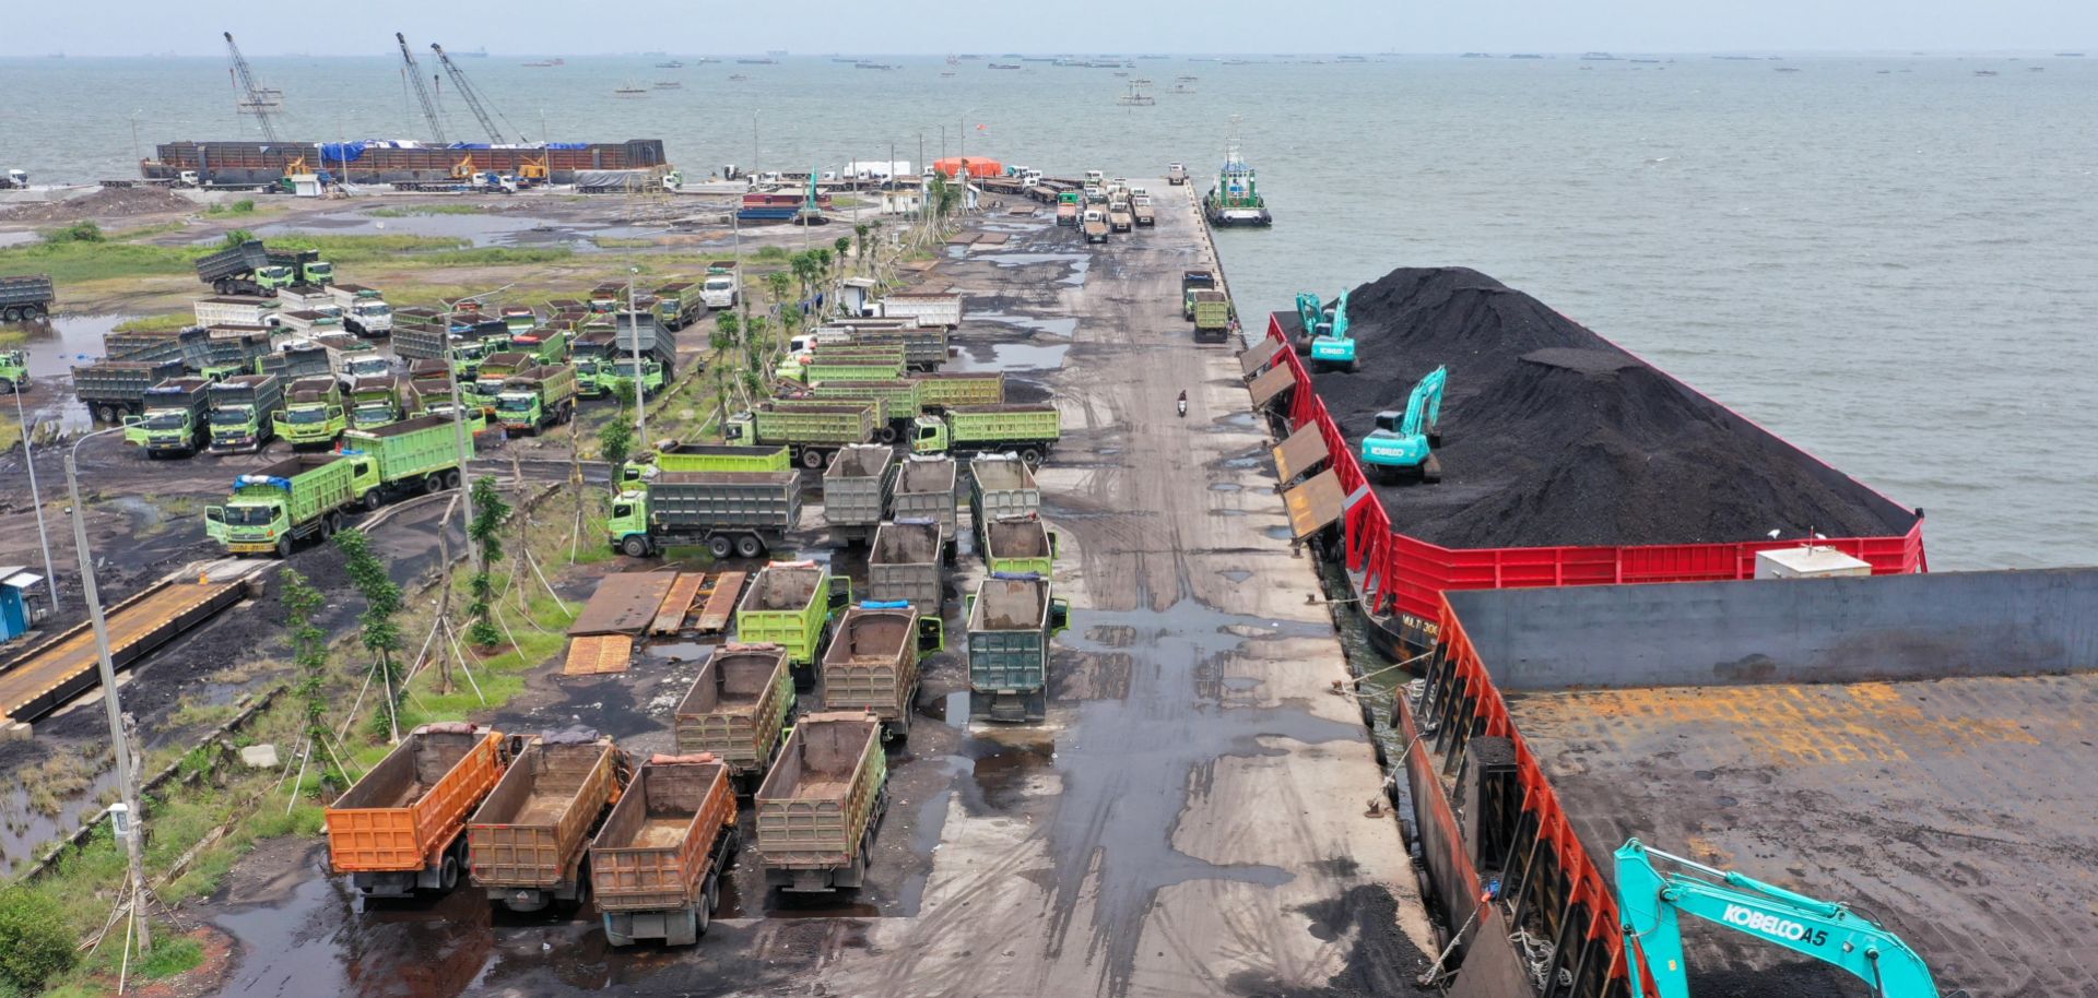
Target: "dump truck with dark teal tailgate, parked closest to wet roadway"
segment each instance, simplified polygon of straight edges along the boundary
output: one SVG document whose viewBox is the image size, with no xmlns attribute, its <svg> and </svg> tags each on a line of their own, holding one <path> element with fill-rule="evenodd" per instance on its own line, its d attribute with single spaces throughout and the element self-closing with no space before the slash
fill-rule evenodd
<svg viewBox="0 0 2098 998">
<path fill-rule="evenodd" d="M 969 642 L 969 719 L 1049 717 L 1049 639 L 1070 606 L 1043 577 L 992 577 L 976 585 L 963 621 Z"/>
</svg>

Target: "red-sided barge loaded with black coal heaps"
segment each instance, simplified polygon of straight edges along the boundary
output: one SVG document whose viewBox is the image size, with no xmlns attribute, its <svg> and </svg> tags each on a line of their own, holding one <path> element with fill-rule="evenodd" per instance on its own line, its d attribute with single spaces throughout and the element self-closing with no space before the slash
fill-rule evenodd
<svg viewBox="0 0 2098 998">
<path fill-rule="evenodd" d="M 1355 371 L 1313 373 L 1297 312 L 1271 314 L 1244 365 L 1292 457 L 1284 486 L 1309 486 L 1299 535 L 1345 556 L 1393 658 L 1435 644 L 1446 591 L 1735 581 L 1808 541 L 1874 574 L 1926 570 L 1922 509 L 1492 277 L 1399 268 L 1347 310 Z M 1437 369 L 1441 480 L 1378 474 L 1364 438 Z"/>
</svg>

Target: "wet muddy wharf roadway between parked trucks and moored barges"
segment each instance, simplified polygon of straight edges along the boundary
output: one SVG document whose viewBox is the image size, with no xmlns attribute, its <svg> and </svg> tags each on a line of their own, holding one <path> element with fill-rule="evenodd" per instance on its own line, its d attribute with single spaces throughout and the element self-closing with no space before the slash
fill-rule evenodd
<svg viewBox="0 0 2098 998">
<path fill-rule="evenodd" d="M 1347 665 L 1236 359 L 1179 321 L 1177 275 L 1211 258 L 1192 205 L 1164 201 L 1156 231 L 1099 250 L 999 212 L 980 229 L 1005 245 L 929 275 L 969 296 L 952 367 L 1003 369 L 1064 413 L 1043 493 L 1074 627 L 1045 723 L 967 723 L 961 656 L 927 663 L 866 889 L 768 893 L 747 847 L 697 948 L 613 950 L 587 912 L 491 912 L 470 887 L 361 904 L 317 845 L 273 843 L 197 910 L 239 946 L 222 994 L 1412 994 L 1433 939 L 1406 851 L 1364 811 L 1380 774 L 1357 707 L 1330 694 Z M 818 530 L 797 545 L 860 570 Z M 657 648 L 587 679 L 550 665 L 487 719 L 661 748 L 703 654 Z"/>
</svg>

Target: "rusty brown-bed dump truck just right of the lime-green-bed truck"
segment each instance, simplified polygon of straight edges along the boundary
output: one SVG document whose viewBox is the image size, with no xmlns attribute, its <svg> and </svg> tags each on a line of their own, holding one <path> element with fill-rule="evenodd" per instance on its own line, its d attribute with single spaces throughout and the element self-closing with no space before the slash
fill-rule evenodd
<svg viewBox="0 0 2098 998">
<path fill-rule="evenodd" d="M 919 616 L 908 602 L 845 610 L 822 652 L 822 709 L 866 711 L 883 736 L 908 736 L 919 660 L 938 648 L 940 619 Z"/>
</svg>

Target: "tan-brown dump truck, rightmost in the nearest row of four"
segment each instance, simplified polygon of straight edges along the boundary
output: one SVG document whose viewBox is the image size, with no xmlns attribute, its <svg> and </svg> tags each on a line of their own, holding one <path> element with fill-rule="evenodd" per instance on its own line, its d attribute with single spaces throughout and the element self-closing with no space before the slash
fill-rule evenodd
<svg viewBox="0 0 2098 998">
<path fill-rule="evenodd" d="M 789 893 L 862 887 L 887 803 L 881 721 L 864 713 L 801 717 L 755 797 L 766 885 Z"/>
</svg>

